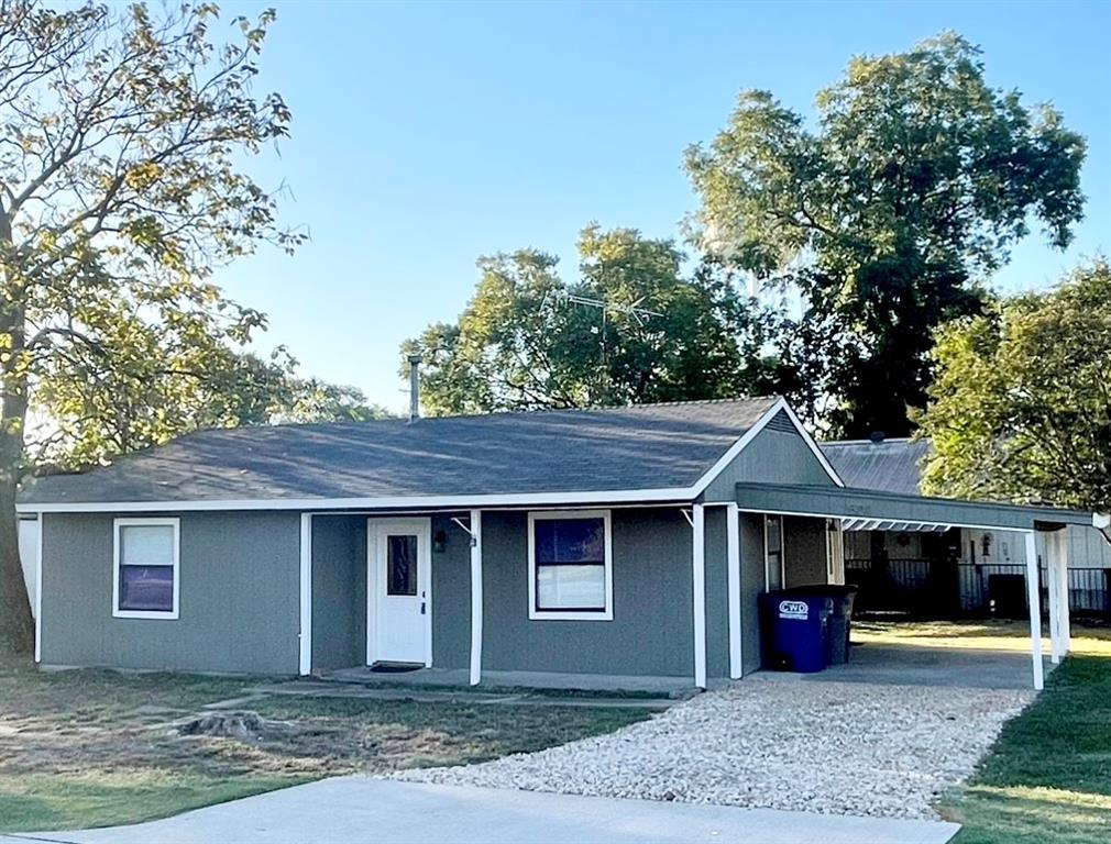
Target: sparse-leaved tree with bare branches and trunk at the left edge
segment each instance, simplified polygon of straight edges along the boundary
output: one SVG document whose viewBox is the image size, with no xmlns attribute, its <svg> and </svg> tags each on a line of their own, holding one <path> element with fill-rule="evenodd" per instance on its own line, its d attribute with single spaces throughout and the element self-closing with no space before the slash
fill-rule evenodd
<svg viewBox="0 0 1111 844">
<path fill-rule="evenodd" d="M 211 4 L 44 8 L 0 0 L 0 640 L 30 646 L 14 500 L 34 392 L 111 363 L 160 379 L 201 371 L 213 339 L 261 315 L 227 301 L 213 270 L 298 235 L 242 170 L 287 133 L 256 96 L 272 12 L 213 39 Z M 169 346 L 169 348 L 167 348 Z M 198 353 L 192 354 L 190 350 Z M 153 365 L 148 360 L 153 354 Z"/>
</svg>

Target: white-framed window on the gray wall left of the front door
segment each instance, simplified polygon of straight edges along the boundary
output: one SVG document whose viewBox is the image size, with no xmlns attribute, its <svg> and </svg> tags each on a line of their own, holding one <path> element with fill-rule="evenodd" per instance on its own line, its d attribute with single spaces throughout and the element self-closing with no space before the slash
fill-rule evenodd
<svg viewBox="0 0 1111 844">
<path fill-rule="evenodd" d="M 179 520 L 117 519 L 114 534 L 112 615 L 177 619 Z"/>
</svg>

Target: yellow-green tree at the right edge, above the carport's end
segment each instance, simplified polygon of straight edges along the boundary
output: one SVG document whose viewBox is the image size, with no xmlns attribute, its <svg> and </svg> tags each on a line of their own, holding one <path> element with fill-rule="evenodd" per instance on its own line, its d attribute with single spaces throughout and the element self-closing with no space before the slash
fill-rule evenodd
<svg viewBox="0 0 1111 844">
<path fill-rule="evenodd" d="M 934 493 L 1111 512 L 1111 267 L 947 325 L 921 433 Z"/>
</svg>

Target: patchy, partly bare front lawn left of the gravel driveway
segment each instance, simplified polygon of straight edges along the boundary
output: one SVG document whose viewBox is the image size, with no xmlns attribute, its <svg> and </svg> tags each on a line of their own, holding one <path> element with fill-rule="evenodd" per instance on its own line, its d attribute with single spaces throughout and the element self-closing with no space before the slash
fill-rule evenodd
<svg viewBox="0 0 1111 844">
<path fill-rule="evenodd" d="M 272 696 L 242 709 L 290 730 L 246 741 L 176 722 L 261 679 L 0 664 L 0 832 L 164 817 L 336 774 L 448 765 L 615 730 L 643 710 Z"/>
</svg>

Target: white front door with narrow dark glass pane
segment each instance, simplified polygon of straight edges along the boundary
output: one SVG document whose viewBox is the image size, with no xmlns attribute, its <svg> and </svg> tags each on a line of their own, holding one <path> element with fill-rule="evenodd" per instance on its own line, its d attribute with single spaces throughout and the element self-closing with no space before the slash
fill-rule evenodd
<svg viewBox="0 0 1111 844">
<path fill-rule="evenodd" d="M 428 519 L 367 521 L 367 664 L 432 664 Z"/>
</svg>

